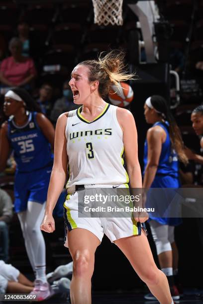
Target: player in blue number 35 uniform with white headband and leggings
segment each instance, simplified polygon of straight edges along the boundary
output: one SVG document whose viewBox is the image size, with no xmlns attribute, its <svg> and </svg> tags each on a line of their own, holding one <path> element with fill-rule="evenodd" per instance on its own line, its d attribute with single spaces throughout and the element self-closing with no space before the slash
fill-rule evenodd
<svg viewBox="0 0 203 304">
<path fill-rule="evenodd" d="M 39 299 L 50 295 L 45 269 L 45 242 L 40 230 L 53 165 L 54 128 L 40 113 L 35 101 L 22 88 L 5 94 L 4 119 L 0 128 L 0 171 L 10 150 L 16 162 L 14 208 L 20 221 L 27 255 L 36 275 L 33 294 Z"/>
</svg>

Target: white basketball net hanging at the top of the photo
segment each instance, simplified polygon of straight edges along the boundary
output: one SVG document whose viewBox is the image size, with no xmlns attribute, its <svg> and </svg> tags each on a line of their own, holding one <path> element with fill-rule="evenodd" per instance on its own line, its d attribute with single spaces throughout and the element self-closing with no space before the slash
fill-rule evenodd
<svg viewBox="0 0 203 304">
<path fill-rule="evenodd" d="M 92 0 L 94 6 L 95 23 L 99 25 L 122 25 L 123 0 Z"/>
</svg>

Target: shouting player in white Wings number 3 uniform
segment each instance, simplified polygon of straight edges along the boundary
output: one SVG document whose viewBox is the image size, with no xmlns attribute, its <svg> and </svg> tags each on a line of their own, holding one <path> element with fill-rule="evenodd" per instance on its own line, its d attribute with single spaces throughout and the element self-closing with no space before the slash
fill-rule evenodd
<svg viewBox="0 0 203 304">
<path fill-rule="evenodd" d="M 111 83 L 132 78 L 123 73 L 123 54 L 110 52 L 99 60 L 78 64 L 69 85 L 78 110 L 62 114 L 56 125 L 54 166 L 41 229 L 55 229 L 52 211 L 63 189 L 69 165 L 68 196 L 64 203 L 66 246 L 73 258 L 71 303 L 91 304 L 91 278 L 95 251 L 105 233 L 130 261 L 162 304 L 173 303 L 167 278 L 153 260 L 143 223 L 148 219 L 79 217 L 80 189 L 125 187 L 128 175 L 122 165 L 125 152 L 130 185 L 142 187 L 137 156 L 137 132 L 132 114 L 104 101 Z M 80 134 L 80 138 L 78 137 Z M 98 136 L 100 134 L 100 136 Z M 85 135 L 85 136 L 84 136 Z M 82 215 L 83 216 L 83 215 Z"/>
</svg>

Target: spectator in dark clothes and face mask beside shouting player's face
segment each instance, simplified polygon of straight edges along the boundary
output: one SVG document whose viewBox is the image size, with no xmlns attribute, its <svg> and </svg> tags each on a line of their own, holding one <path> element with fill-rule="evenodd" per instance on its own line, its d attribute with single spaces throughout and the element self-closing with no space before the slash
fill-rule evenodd
<svg viewBox="0 0 203 304">
<path fill-rule="evenodd" d="M 63 96 L 56 100 L 53 109 L 51 111 L 50 119 L 56 123 L 58 117 L 68 111 L 75 110 L 79 105 L 73 102 L 73 93 L 70 90 L 69 80 L 66 80 L 63 84 Z"/>
</svg>

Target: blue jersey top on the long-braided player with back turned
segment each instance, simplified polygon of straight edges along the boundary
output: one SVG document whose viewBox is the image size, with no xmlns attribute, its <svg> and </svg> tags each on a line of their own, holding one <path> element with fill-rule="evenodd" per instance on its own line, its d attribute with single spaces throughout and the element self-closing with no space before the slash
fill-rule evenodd
<svg viewBox="0 0 203 304">
<path fill-rule="evenodd" d="M 166 132 L 166 141 L 162 144 L 161 154 L 159 158 L 159 164 L 156 172 L 157 175 L 169 175 L 173 177 L 179 176 L 179 164 L 178 164 L 178 155 L 174 149 L 172 149 L 171 140 L 169 136 L 169 123 L 166 121 L 156 122 L 153 127 L 160 126 Z M 144 172 L 147 165 L 147 140 L 144 144 Z M 173 187 L 172 185 L 168 187 Z"/>
</svg>

